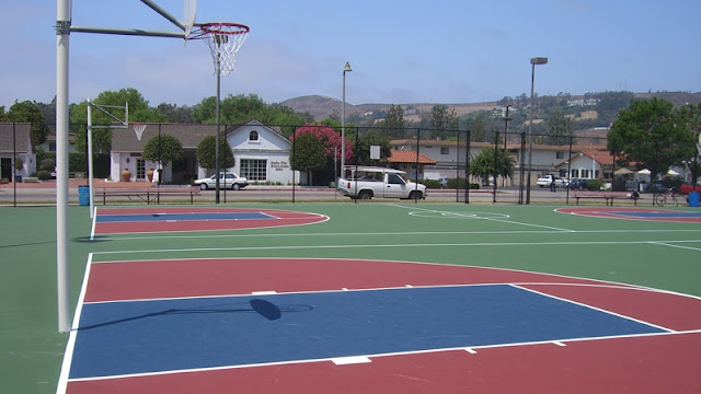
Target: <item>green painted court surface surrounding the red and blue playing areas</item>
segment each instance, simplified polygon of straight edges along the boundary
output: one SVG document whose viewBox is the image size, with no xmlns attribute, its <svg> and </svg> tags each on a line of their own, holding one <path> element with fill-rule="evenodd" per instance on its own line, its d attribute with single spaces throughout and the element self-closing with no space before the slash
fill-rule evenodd
<svg viewBox="0 0 701 394">
<path fill-rule="evenodd" d="M 299 227 L 114 234 L 91 241 L 88 208 L 71 207 L 71 305 L 78 301 L 90 253 L 95 262 L 327 257 L 456 264 L 601 279 L 701 297 L 701 223 L 581 217 L 555 212 L 552 206 L 227 207 L 314 212 L 330 219 Z M 51 207 L 2 208 L 0 217 L 2 392 L 53 393 L 68 339 L 57 332 L 56 212 Z"/>
</svg>

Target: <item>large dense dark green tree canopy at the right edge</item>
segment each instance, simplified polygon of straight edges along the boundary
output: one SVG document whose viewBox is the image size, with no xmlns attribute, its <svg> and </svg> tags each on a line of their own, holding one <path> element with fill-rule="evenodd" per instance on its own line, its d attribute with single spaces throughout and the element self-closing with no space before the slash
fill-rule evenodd
<svg viewBox="0 0 701 394">
<path fill-rule="evenodd" d="M 608 149 L 622 165 L 634 163 L 654 175 L 664 174 L 698 154 L 696 131 L 691 130 L 696 111 L 693 106 L 675 108 L 657 97 L 633 101 L 611 126 Z"/>
</svg>

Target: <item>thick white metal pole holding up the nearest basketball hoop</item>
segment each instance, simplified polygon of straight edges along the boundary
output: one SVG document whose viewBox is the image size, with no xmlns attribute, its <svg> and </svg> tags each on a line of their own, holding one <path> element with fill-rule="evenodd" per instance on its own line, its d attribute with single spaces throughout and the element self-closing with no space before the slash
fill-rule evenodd
<svg viewBox="0 0 701 394">
<path fill-rule="evenodd" d="M 58 331 L 70 331 L 70 276 L 68 250 L 68 59 L 69 0 L 56 0 L 56 276 Z"/>
</svg>

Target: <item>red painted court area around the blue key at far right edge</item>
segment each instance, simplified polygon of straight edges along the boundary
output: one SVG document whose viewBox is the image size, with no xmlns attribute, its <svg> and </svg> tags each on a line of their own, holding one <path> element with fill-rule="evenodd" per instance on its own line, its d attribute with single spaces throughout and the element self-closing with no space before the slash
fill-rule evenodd
<svg viewBox="0 0 701 394">
<path fill-rule="evenodd" d="M 556 212 L 595 218 L 701 223 L 701 211 L 640 207 L 558 208 Z"/>
</svg>

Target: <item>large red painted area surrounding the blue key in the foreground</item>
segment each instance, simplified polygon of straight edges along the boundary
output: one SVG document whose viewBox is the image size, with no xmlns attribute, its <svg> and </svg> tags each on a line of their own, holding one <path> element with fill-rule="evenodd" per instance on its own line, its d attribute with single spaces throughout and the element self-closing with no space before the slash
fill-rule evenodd
<svg viewBox="0 0 701 394">
<path fill-rule="evenodd" d="M 348 363 L 300 360 L 62 383 L 71 394 L 701 392 L 701 300 L 620 283 L 364 259 L 135 260 L 91 264 L 83 301 L 479 283 L 510 283 L 656 325 L 667 333 L 367 355 Z"/>
</svg>

